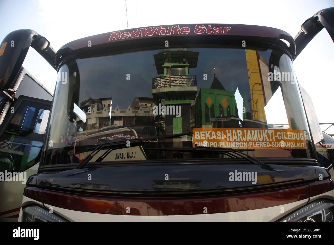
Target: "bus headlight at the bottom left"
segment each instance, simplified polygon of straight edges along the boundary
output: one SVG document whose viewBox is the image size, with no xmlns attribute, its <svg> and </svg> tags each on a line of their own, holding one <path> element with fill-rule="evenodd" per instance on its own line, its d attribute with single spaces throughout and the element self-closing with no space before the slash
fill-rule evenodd
<svg viewBox="0 0 334 245">
<path fill-rule="evenodd" d="M 22 209 L 22 222 L 68 222 L 54 213 L 37 205 Z"/>
</svg>

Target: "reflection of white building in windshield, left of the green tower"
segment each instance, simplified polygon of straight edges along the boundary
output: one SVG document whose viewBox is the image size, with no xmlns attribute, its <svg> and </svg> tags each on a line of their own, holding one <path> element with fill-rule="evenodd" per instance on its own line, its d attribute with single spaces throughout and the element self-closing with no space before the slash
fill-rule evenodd
<svg viewBox="0 0 334 245">
<path fill-rule="evenodd" d="M 154 121 L 153 98 L 136 97 L 126 109 L 112 106 L 112 98 L 88 99 L 80 104 L 80 109 L 87 116 L 86 123 L 80 121 L 79 133 L 86 134 L 104 127 L 148 125 Z M 111 109 L 111 117 L 110 117 Z M 89 113 L 91 110 L 91 113 Z"/>
</svg>

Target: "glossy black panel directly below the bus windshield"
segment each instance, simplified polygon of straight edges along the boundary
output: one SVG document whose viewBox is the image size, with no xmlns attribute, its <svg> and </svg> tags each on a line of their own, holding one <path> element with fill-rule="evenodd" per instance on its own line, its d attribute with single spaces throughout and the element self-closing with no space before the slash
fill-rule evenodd
<svg viewBox="0 0 334 245">
<path fill-rule="evenodd" d="M 136 194 L 199 193 L 273 188 L 329 178 L 326 168 L 305 165 L 129 164 L 40 173 L 31 176 L 27 186 Z"/>
</svg>

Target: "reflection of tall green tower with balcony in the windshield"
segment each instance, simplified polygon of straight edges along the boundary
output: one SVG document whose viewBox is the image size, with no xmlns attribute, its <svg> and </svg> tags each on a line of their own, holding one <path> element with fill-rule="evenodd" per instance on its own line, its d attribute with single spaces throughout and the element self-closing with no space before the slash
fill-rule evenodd
<svg viewBox="0 0 334 245">
<path fill-rule="evenodd" d="M 157 106 L 166 106 L 165 115 L 157 115 L 165 119 L 166 134 L 189 131 L 190 103 L 197 93 L 196 75 L 189 75 L 189 68 L 196 67 L 197 60 L 197 51 L 184 48 L 154 54 L 157 73 L 163 76 L 153 78 L 152 95 Z"/>
</svg>

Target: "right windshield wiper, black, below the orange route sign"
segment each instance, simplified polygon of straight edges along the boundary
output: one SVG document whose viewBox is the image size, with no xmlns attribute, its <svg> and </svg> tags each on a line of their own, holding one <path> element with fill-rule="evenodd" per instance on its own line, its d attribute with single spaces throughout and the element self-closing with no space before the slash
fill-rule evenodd
<svg viewBox="0 0 334 245">
<path fill-rule="evenodd" d="M 227 148 L 227 147 L 206 147 L 206 146 L 196 146 L 196 147 L 155 147 L 155 148 L 148 148 L 145 147 L 146 150 L 161 150 L 161 151 L 208 151 L 208 152 L 223 152 L 228 156 L 234 157 L 233 155 L 229 153 L 234 153 L 247 161 L 254 163 L 254 164 L 265 164 L 259 159 L 256 159 L 252 156 L 249 156 L 244 151 L 254 151 L 254 149 L 233 149 L 233 148 Z"/>
</svg>

